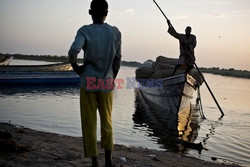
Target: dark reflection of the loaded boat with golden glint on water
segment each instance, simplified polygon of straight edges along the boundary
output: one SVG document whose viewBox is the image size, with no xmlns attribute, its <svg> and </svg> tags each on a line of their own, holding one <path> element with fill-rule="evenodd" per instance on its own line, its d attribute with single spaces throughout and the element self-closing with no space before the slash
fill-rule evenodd
<svg viewBox="0 0 250 167">
<path fill-rule="evenodd" d="M 163 114 L 165 113 L 165 114 Z M 166 114 L 167 113 L 167 114 Z M 151 104 L 135 90 L 135 113 L 133 114 L 135 127 L 148 128 L 151 138 L 157 138 L 158 144 L 171 152 L 184 154 L 188 148 L 203 149 L 201 143 L 194 143 L 198 136 L 199 112 L 190 108 L 179 114 L 163 111 Z"/>
</svg>

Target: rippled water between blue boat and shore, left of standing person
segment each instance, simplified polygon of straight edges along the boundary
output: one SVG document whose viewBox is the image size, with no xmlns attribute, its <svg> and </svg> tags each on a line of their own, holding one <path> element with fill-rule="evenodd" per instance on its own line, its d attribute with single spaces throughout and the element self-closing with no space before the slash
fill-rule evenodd
<svg viewBox="0 0 250 167">
<path fill-rule="evenodd" d="M 80 136 L 79 86 L 1 86 L 0 120 L 36 130 Z"/>
</svg>

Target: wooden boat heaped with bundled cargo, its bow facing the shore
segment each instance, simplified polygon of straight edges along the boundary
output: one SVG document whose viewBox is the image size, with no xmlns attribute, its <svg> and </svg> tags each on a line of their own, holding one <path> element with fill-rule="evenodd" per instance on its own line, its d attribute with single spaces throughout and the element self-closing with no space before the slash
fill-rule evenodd
<svg viewBox="0 0 250 167">
<path fill-rule="evenodd" d="M 165 110 L 160 113 L 163 118 L 167 118 L 170 112 L 177 115 L 186 111 L 190 107 L 193 93 L 202 83 L 196 71 L 185 74 L 184 70 L 178 70 L 177 75 L 171 76 L 177 62 L 177 59 L 160 56 L 155 64 L 136 70 L 136 79 L 142 87 L 139 91 L 149 103 Z M 146 81 L 141 82 L 142 78 Z M 147 86 L 147 80 L 155 81 L 155 85 Z"/>
</svg>

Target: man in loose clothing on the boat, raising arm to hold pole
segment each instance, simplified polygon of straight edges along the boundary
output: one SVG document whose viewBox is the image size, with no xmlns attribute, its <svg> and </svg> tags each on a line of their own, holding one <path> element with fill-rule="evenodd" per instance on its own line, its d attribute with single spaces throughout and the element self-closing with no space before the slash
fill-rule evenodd
<svg viewBox="0 0 250 167">
<path fill-rule="evenodd" d="M 180 43 L 180 56 L 179 62 L 175 66 L 174 72 L 172 76 L 175 74 L 176 70 L 181 66 L 187 66 L 185 73 L 188 73 L 192 68 L 194 68 L 195 56 L 194 56 L 194 48 L 196 47 L 196 36 L 191 34 L 191 27 L 186 27 L 186 34 L 179 34 L 175 31 L 173 25 L 170 20 L 167 20 L 168 23 L 168 33 L 179 40 Z"/>
</svg>

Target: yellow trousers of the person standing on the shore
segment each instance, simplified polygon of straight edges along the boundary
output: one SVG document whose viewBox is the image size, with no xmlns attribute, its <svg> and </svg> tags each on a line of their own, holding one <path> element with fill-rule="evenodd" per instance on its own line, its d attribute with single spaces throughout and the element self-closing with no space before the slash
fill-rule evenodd
<svg viewBox="0 0 250 167">
<path fill-rule="evenodd" d="M 113 92 L 88 92 L 80 89 L 80 109 L 85 157 L 98 155 L 96 125 L 97 109 L 101 124 L 101 147 L 113 150 Z"/>
</svg>

